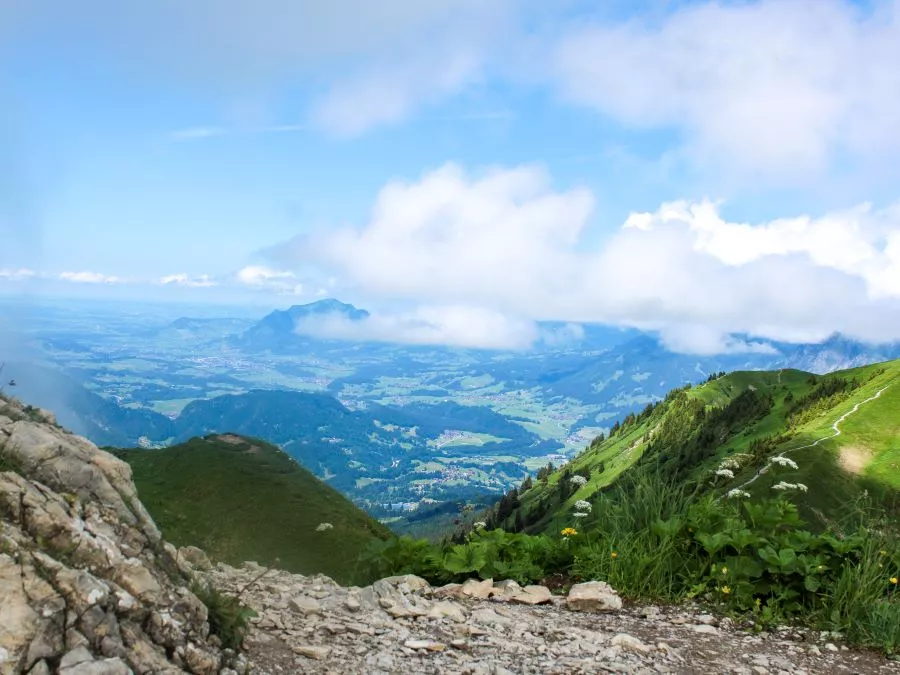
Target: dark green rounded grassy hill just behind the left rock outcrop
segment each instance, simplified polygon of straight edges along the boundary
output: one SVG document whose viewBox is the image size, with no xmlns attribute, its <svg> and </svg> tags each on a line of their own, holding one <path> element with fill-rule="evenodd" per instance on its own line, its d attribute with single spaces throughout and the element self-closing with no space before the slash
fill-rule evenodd
<svg viewBox="0 0 900 675">
<path fill-rule="evenodd" d="M 224 440 L 223 440 L 224 439 Z M 232 564 L 255 560 L 349 581 L 361 549 L 389 532 L 278 448 L 237 436 L 119 450 L 166 538 Z M 323 522 L 334 529 L 316 532 Z"/>
</svg>

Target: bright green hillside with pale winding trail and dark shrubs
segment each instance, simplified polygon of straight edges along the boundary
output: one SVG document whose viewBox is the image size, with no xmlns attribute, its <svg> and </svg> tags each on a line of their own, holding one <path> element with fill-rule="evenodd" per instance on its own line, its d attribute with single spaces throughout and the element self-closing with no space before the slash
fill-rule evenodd
<svg viewBox="0 0 900 675">
<path fill-rule="evenodd" d="M 640 468 L 722 494 L 742 489 L 771 496 L 777 484 L 799 483 L 807 491 L 794 490 L 792 500 L 807 519 L 824 524 L 863 494 L 881 505 L 895 501 L 898 413 L 900 361 L 826 376 L 797 370 L 722 375 L 670 392 L 563 469 L 543 470 L 498 505 L 490 524 L 556 531 L 572 524 L 576 502 L 594 501 Z M 797 468 L 773 466 L 779 455 Z M 716 476 L 721 468 L 734 477 Z M 583 485 L 572 480 L 578 475 Z"/>
</svg>

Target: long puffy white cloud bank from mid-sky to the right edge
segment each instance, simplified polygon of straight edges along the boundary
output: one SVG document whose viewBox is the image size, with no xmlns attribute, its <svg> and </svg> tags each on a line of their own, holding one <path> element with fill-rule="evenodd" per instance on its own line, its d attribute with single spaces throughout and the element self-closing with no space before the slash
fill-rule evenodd
<svg viewBox="0 0 900 675">
<path fill-rule="evenodd" d="M 592 204 L 539 167 L 470 176 L 449 164 L 386 185 L 366 224 L 270 254 L 374 297 L 659 330 L 679 351 L 760 351 L 753 338 L 834 331 L 900 338 L 898 206 L 748 224 L 713 202 L 673 202 L 588 246 Z"/>
</svg>

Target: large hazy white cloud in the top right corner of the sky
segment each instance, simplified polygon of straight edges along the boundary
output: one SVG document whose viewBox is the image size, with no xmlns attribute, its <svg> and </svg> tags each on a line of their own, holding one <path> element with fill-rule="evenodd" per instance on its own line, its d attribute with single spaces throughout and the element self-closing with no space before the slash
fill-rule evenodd
<svg viewBox="0 0 900 675">
<path fill-rule="evenodd" d="M 691 3 L 653 23 L 581 24 L 555 76 L 628 126 L 680 131 L 701 165 L 804 181 L 839 156 L 900 149 L 900 3 L 875 6 Z"/>
</svg>

